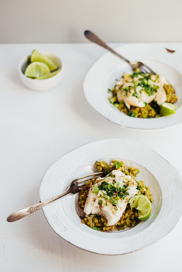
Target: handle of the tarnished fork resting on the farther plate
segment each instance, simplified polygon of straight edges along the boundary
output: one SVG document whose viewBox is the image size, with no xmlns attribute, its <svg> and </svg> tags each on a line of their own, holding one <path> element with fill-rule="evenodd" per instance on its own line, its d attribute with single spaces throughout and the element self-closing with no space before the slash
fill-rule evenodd
<svg viewBox="0 0 182 272">
<path fill-rule="evenodd" d="M 111 53 L 115 54 L 116 56 L 120 57 L 121 59 L 125 60 L 127 63 L 130 63 L 129 60 L 125 59 L 123 56 L 121 56 L 120 54 L 118 54 L 116 51 L 114 51 L 112 48 L 110 48 L 108 45 L 106 45 L 105 42 L 103 42 L 99 37 L 97 37 L 92 31 L 90 30 L 86 30 L 84 32 L 86 38 L 91 41 L 94 42 L 96 44 L 98 44 L 99 46 L 102 46 L 103 48 L 109 50 Z"/>
</svg>

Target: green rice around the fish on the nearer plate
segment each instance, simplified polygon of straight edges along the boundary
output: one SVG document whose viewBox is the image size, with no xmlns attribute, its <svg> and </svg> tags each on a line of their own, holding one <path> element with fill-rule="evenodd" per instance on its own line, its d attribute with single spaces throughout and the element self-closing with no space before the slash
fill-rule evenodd
<svg viewBox="0 0 182 272">
<path fill-rule="evenodd" d="M 129 167 L 126 170 L 126 166 L 124 165 L 123 161 L 119 161 L 121 163 L 121 167 L 116 168 L 116 160 L 113 160 L 110 165 L 108 165 L 105 161 L 96 161 L 95 166 L 96 168 L 101 172 L 103 171 L 106 175 L 109 174 L 113 170 L 120 170 L 125 175 L 130 175 L 135 181 L 136 181 L 136 175 L 139 173 L 139 170 L 137 168 L 134 168 L 133 166 Z M 85 202 L 89 193 L 89 188 L 96 183 L 96 178 L 93 178 L 86 182 L 86 185 L 82 188 L 82 190 L 79 193 L 79 206 L 81 208 L 84 208 Z M 138 194 L 142 194 L 146 196 L 151 202 L 152 199 L 152 193 L 150 192 L 150 188 L 145 186 L 144 180 L 137 182 L 139 189 Z M 89 214 L 81 218 L 82 223 L 86 224 L 90 228 L 99 228 L 101 231 L 108 231 L 108 230 L 124 230 L 127 227 L 133 228 L 137 222 L 139 222 L 138 219 L 138 211 L 136 209 L 131 210 L 130 204 L 127 204 L 126 209 L 120 218 L 120 220 L 114 225 L 114 226 L 107 226 L 107 219 L 102 215 L 97 214 Z"/>
</svg>

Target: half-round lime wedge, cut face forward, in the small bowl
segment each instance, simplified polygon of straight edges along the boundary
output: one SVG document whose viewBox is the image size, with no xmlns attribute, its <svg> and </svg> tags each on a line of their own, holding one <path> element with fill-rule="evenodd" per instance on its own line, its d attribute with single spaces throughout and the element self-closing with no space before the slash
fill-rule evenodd
<svg viewBox="0 0 182 272">
<path fill-rule="evenodd" d="M 32 78 L 41 77 L 48 73 L 50 73 L 49 67 L 43 62 L 32 62 L 25 70 L 25 76 Z"/>
</svg>

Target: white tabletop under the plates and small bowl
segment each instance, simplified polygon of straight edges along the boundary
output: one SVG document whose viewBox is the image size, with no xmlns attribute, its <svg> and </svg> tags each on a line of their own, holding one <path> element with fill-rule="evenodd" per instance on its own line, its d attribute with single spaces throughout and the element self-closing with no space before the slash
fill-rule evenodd
<svg viewBox="0 0 182 272">
<path fill-rule="evenodd" d="M 115 48 L 121 43 L 110 43 Z M 182 52 L 182 43 L 159 43 Z M 33 49 L 62 56 L 61 83 L 33 91 L 20 82 L 19 60 Z M 163 240 L 121 256 L 102 256 L 72 246 L 49 227 L 42 210 L 14 223 L 6 217 L 39 202 L 46 169 L 90 141 L 129 138 L 149 145 L 182 174 L 182 124 L 159 131 L 124 129 L 97 115 L 82 90 L 89 67 L 106 51 L 91 43 L 0 45 L 1 271 L 181 271 L 182 218 Z M 147 270 L 146 270 L 147 268 Z"/>
</svg>

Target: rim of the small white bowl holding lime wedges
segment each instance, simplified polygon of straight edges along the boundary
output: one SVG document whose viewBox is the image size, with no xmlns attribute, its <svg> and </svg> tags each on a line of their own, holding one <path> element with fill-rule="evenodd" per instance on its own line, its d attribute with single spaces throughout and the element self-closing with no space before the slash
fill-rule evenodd
<svg viewBox="0 0 182 272">
<path fill-rule="evenodd" d="M 53 56 L 55 56 L 61 63 L 62 63 L 62 66 L 61 66 L 61 69 L 60 71 L 53 77 L 50 77 L 50 78 L 46 78 L 46 79 L 42 79 L 42 81 L 45 81 L 45 80 L 52 80 L 53 78 L 57 77 L 60 75 L 60 73 L 63 72 L 64 70 L 64 61 L 62 60 L 62 58 L 60 58 L 60 56 L 56 55 L 55 53 L 52 53 L 50 51 L 45 51 L 45 50 L 40 50 L 39 51 L 40 53 L 48 53 L 48 54 L 51 54 Z M 30 77 L 26 77 L 25 74 L 22 72 L 22 65 L 25 63 L 26 59 L 28 57 L 30 57 L 31 55 L 26 55 L 24 57 L 22 57 L 22 59 L 19 61 L 19 64 L 18 64 L 18 71 L 19 71 L 19 74 L 21 74 L 22 77 L 26 78 L 26 80 L 29 80 L 30 82 L 33 80 L 35 81 L 35 79 L 33 78 L 30 78 Z M 39 80 L 40 81 L 40 80 Z"/>
</svg>

